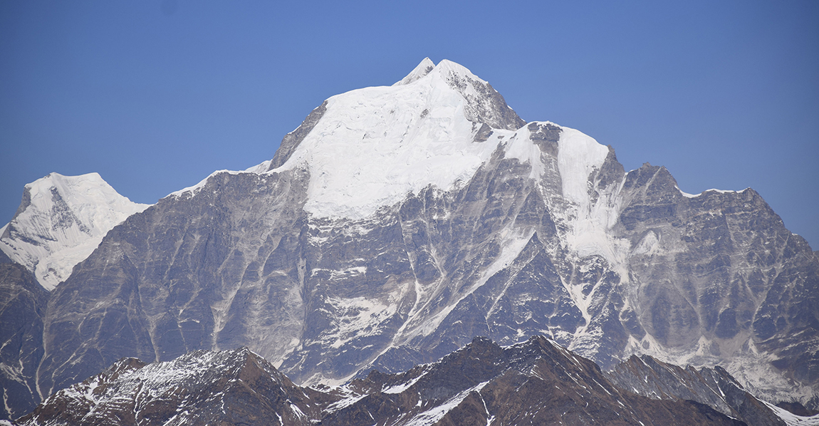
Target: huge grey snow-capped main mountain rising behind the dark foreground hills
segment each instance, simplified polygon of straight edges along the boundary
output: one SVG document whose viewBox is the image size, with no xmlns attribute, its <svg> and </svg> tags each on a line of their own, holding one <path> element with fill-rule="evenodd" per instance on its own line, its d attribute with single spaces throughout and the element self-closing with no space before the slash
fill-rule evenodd
<svg viewBox="0 0 819 426">
<path fill-rule="evenodd" d="M 147 208 L 99 197 L 127 217 L 101 242 L 80 224 L 102 213 L 53 186 L 0 237 L 7 416 L 124 356 L 249 347 L 298 385 L 335 385 L 536 335 L 604 370 L 721 365 L 757 397 L 819 405 L 819 257 L 758 193 L 626 172 L 451 61 L 328 98 L 251 169 Z M 52 220 L 55 193 L 73 221 Z"/>
</svg>

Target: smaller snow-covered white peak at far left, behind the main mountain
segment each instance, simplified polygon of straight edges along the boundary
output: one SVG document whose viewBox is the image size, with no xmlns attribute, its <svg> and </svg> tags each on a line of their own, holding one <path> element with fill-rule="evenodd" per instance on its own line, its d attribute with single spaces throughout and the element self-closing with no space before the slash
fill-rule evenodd
<svg viewBox="0 0 819 426">
<path fill-rule="evenodd" d="M 20 208 L 0 229 L 0 250 L 52 290 L 111 228 L 147 207 L 116 193 L 97 173 L 48 174 L 25 185 Z"/>
</svg>

